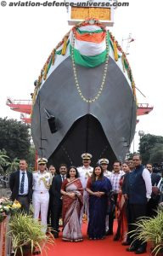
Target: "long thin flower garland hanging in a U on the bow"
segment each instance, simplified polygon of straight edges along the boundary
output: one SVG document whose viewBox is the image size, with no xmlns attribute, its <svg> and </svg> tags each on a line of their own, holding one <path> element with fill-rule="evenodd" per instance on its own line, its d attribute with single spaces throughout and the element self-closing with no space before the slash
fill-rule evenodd
<svg viewBox="0 0 163 256">
<path fill-rule="evenodd" d="M 77 26 L 77 27 L 79 27 L 79 26 Z M 97 101 L 98 97 L 101 95 L 101 93 L 104 89 L 104 84 L 105 84 L 105 80 L 106 80 L 106 74 L 107 74 L 107 70 L 108 70 L 108 63 L 109 63 L 109 57 L 110 57 L 110 53 L 109 53 L 110 47 L 109 47 L 109 43 L 108 43 L 109 42 L 108 33 L 106 35 L 106 61 L 105 61 L 105 64 L 104 64 L 104 74 L 103 74 L 103 78 L 102 78 L 102 83 L 99 87 L 97 95 L 94 96 L 92 99 L 87 99 L 85 96 L 82 95 L 82 90 L 80 88 L 79 81 L 77 79 L 76 63 L 75 63 L 75 58 L 74 58 L 75 39 L 76 39 L 76 36 L 75 36 L 75 33 L 74 33 L 74 29 L 73 29 L 71 60 L 72 60 L 72 69 L 73 69 L 73 72 L 74 72 L 74 79 L 75 79 L 75 83 L 76 83 L 76 89 L 78 90 L 78 93 L 79 93 L 79 95 L 81 96 L 81 98 L 84 102 L 93 103 L 93 102 Z"/>
</svg>

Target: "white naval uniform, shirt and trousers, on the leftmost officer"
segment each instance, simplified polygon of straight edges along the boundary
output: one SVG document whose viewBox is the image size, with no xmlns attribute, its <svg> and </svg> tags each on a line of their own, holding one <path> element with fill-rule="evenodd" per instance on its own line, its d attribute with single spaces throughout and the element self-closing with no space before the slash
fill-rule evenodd
<svg viewBox="0 0 163 256">
<path fill-rule="evenodd" d="M 47 171 L 41 173 L 40 171 L 33 173 L 33 195 L 32 203 L 34 208 L 34 218 L 39 218 L 41 212 L 42 224 L 44 225 L 43 231 L 47 230 L 47 215 L 48 215 L 48 202 L 49 193 L 48 186 L 51 183 L 51 174 Z M 46 184 L 46 185 L 45 185 Z"/>
</svg>

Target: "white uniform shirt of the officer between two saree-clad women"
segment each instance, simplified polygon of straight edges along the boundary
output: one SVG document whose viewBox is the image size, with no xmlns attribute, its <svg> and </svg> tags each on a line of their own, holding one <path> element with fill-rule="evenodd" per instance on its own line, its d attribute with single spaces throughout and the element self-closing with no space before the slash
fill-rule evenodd
<svg viewBox="0 0 163 256">
<path fill-rule="evenodd" d="M 93 167 L 88 166 L 86 168 L 85 166 L 80 166 L 80 167 L 77 167 L 77 171 L 79 172 L 79 178 L 82 183 L 82 188 L 86 189 L 88 177 L 91 177 L 93 174 Z"/>
</svg>

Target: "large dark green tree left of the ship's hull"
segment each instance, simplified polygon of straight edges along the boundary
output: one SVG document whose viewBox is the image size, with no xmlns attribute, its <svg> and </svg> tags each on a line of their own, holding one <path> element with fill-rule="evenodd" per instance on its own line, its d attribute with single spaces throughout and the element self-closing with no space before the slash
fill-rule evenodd
<svg viewBox="0 0 163 256">
<path fill-rule="evenodd" d="M 30 143 L 30 126 L 15 119 L 0 118 L 0 149 L 5 149 L 8 157 L 22 159 L 28 156 Z"/>
</svg>

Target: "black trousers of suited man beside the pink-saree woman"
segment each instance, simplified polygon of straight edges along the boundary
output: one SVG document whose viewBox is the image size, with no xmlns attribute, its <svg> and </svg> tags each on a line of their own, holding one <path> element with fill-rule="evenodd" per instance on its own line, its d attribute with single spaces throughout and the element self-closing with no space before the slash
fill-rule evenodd
<svg viewBox="0 0 163 256">
<path fill-rule="evenodd" d="M 59 230 L 59 218 L 62 212 L 62 201 L 52 202 L 52 215 L 51 215 L 51 226 L 54 231 L 58 232 Z"/>
</svg>

